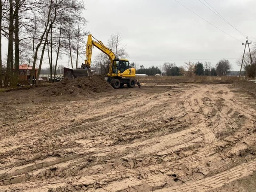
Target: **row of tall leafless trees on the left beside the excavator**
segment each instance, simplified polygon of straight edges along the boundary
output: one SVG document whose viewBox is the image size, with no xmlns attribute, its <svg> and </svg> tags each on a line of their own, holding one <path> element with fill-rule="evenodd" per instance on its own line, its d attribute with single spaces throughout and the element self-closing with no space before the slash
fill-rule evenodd
<svg viewBox="0 0 256 192">
<path fill-rule="evenodd" d="M 56 74 L 63 54 L 69 57 L 72 68 L 78 67 L 79 57 L 85 55 L 87 35 L 83 10 L 83 0 L 1 1 L 0 71 L 5 65 L 5 72 L 0 73 L 0 87 L 2 82 L 5 87 L 17 85 L 21 64 L 32 66 L 31 84 L 35 68 L 38 84 L 43 60 L 48 61 L 50 74 Z M 6 59 L 2 58 L 3 38 L 8 41 Z"/>
</svg>

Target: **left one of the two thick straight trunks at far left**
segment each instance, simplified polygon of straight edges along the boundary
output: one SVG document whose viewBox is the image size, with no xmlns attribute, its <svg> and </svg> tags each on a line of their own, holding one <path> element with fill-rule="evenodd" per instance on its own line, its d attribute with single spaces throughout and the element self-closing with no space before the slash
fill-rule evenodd
<svg viewBox="0 0 256 192">
<path fill-rule="evenodd" d="M 5 87 L 8 87 L 9 82 L 12 85 L 12 74 L 13 74 L 13 4 L 10 3 L 9 11 L 9 34 L 8 34 L 8 53 L 7 53 L 7 63 L 6 63 L 6 73 L 5 73 Z"/>
</svg>

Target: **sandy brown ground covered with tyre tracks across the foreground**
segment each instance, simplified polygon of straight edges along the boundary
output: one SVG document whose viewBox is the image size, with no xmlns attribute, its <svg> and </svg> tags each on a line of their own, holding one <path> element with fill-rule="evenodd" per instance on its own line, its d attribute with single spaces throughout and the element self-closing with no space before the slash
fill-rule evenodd
<svg viewBox="0 0 256 192">
<path fill-rule="evenodd" d="M 255 191 L 256 100 L 239 87 L 43 89 L 0 94 L 1 192 Z"/>
</svg>

